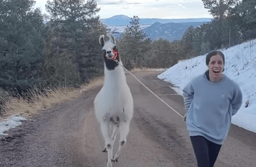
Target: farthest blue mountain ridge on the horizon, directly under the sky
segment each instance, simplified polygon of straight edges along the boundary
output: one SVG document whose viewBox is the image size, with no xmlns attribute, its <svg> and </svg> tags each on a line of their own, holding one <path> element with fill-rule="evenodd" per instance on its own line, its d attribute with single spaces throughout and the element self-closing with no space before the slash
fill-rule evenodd
<svg viewBox="0 0 256 167">
<path fill-rule="evenodd" d="M 106 26 L 125 26 L 129 25 L 131 18 L 125 15 L 117 15 L 107 19 L 100 19 Z M 156 22 L 161 24 L 166 23 L 192 23 L 192 22 L 210 22 L 211 18 L 198 19 L 140 19 L 141 25 L 152 25 Z"/>
</svg>

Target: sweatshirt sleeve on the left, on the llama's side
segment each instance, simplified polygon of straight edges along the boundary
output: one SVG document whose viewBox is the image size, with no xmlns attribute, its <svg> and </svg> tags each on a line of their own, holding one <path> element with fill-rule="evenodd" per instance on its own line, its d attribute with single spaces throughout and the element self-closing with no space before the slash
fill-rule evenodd
<svg viewBox="0 0 256 167">
<path fill-rule="evenodd" d="M 183 98 L 184 98 L 184 105 L 185 105 L 185 111 L 188 112 L 190 105 L 193 101 L 194 97 L 194 89 L 192 87 L 192 83 L 188 83 L 184 88 L 183 88 Z"/>
</svg>

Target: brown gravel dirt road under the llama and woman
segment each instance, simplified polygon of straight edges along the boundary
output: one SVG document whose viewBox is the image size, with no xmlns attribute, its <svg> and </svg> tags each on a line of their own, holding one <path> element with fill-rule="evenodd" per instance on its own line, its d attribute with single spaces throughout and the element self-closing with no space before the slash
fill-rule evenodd
<svg viewBox="0 0 256 167">
<path fill-rule="evenodd" d="M 175 95 L 169 83 L 157 79 L 159 73 L 134 75 L 184 115 L 183 98 Z M 134 116 L 127 144 L 113 167 L 196 167 L 183 118 L 131 75 L 127 80 Z M 93 108 L 100 88 L 39 112 L 9 130 L 9 135 L 0 139 L 0 167 L 106 167 L 107 154 L 101 152 L 104 142 Z M 233 125 L 215 167 L 256 167 L 255 141 L 255 133 Z"/>
</svg>

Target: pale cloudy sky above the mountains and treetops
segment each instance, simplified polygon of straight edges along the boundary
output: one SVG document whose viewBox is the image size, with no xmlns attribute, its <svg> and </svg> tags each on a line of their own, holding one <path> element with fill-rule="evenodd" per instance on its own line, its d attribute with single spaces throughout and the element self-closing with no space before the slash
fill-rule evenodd
<svg viewBox="0 0 256 167">
<path fill-rule="evenodd" d="M 46 13 L 47 0 L 35 0 L 35 7 Z M 85 0 L 86 1 L 86 0 Z M 115 15 L 139 18 L 186 19 L 212 18 L 202 0 L 97 0 L 101 19 Z"/>
</svg>

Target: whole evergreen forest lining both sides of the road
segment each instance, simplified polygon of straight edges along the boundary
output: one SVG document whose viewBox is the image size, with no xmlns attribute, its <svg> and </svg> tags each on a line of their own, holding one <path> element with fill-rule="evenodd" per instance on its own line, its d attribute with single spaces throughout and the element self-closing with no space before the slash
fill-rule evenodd
<svg viewBox="0 0 256 167">
<path fill-rule="evenodd" d="M 179 60 L 256 38 L 255 0 L 202 0 L 213 20 L 190 27 L 182 39 L 152 41 L 138 16 L 117 39 L 127 69 L 169 68 Z M 33 85 L 79 86 L 103 75 L 98 37 L 109 30 L 96 0 L 0 0 L 0 96 L 23 95 Z"/>
</svg>

